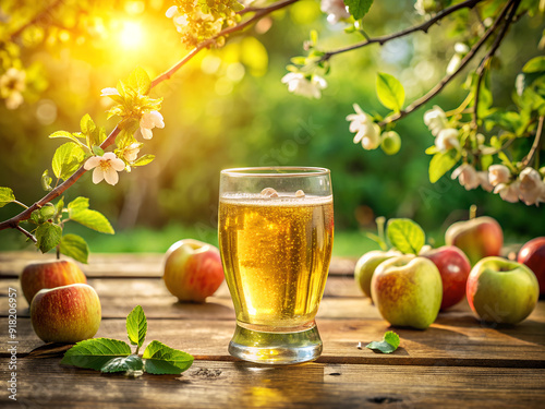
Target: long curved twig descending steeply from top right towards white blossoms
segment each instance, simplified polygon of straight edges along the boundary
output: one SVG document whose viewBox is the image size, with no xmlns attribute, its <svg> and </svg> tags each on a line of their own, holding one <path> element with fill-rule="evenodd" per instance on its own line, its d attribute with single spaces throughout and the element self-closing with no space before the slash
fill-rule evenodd
<svg viewBox="0 0 545 409">
<path fill-rule="evenodd" d="M 401 118 L 407 117 L 409 113 L 412 111 L 419 109 L 421 106 L 426 104 L 429 99 L 432 99 L 434 96 L 436 96 L 455 76 L 457 76 L 464 68 L 465 65 L 473 59 L 473 57 L 476 55 L 476 52 L 481 49 L 481 47 L 484 45 L 484 43 L 491 37 L 491 35 L 496 31 L 500 22 L 505 19 L 507 12 L 511 8 L 513 2 L 518 2 L 520 0 L 510 0 L 506 7 L 501 10 L 498 19 L 494 22 L 494 24 L 488 28 L 488 31 L 481 37 L 481 39 L 475 43 L 475 45 L 471 48 L 470 52 L 465 55 L 464 58 L 460 61 L 460 67 L 450 75 L 446 75 L 439 83 L 437 83 L 432 89 L 427 92 L 426 95 L 420 97 L 419 99 L 414 100 L 411 105 L 409 105 L 405 109 L 400 110 L 398 113 L 385 118 L 382 122 L 378 123 L 379 127 L 384 127 L 387 123 L 395 122 Z M 461 4 L 461 3 L 460 3 Z"/>
</svg>

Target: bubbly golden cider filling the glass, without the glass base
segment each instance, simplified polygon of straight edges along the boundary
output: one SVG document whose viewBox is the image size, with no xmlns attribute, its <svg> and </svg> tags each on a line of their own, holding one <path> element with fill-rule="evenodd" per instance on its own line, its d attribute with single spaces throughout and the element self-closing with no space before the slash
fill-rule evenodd
<svg viewBox="0 0 545 409">
<path fill-rule="evenodd" d="M 267 327 L 313 322 L 334 239 L 332 196 L 219 202 L 219 245 L 237 320 Z"/>
</svg>

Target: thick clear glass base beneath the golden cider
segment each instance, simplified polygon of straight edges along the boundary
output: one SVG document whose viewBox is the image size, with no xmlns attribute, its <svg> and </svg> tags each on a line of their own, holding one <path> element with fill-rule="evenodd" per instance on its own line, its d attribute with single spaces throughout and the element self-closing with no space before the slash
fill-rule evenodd
<svg viewBox="0 0 545 409">
<path fill-rule="evenodd" d="M 296 332 L 263 332 L 237 323 L 229 353 L 250 362 L 292 364 L 313 361 L 322 353 L 322 339 L 313 322 Z"/>
</svg>

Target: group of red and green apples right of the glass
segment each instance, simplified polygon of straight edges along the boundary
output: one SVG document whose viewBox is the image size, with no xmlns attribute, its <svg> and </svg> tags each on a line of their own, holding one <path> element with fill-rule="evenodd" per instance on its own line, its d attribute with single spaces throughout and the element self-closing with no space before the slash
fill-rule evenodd
<svg viewBox="0 0 545 409">
<path fill-rule="evenodd" d="M 425 329 L 439 310 L 465 296 L 477 318 L 517 324 L 535 308 L 540 286 L 543 291 L 545 238 L 526 243 L 519 262 L 510 262 L 498 256 L 504 234 L 491 217 L 452 225 L 439 249 L 424 245 L 425 233 L 414 221 L 390 219 L 386 236 L 392 250 L 387 251 L 384 222 L 377 225 L 383 251 L 364 254 L 354 278 L 391 325 Z"/>
</svg>

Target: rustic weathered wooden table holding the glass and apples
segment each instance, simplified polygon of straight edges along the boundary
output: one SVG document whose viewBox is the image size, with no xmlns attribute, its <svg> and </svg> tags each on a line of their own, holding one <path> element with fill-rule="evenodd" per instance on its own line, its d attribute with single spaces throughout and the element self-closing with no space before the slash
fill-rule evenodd
<svg viewBox="0 0 545 409">
<path fill-rule="evenodd" d="M 393 328 L 391 354 L 358 349 L 392 329 L 351 275 L 353 261 L 334 260 L 317 324 L 324 353 L 315 362 L 266 366 L 232 358 L 227 346 L 234 313 L 225 285 L 205 304 L 181 304 L 162 284 L 162 256 L 93 255 L 84 266 L 102 304 L 97 337 L 126 339 L 125 316 L 137 304 L 148 318 L 147 341 L 195 357 L 181 375 L 128 378 L 61 365 L 38 349 L 17 276 L 36 253 L 0 253 L 2 381 L 9 381 L 8 288 L 20 291 L 17 400 L 3 387 L 2 407 L 360 408 L 545 407 L 545 302 L 516 327 L 482 325 L 465 302 L 440 313 L 426 330 Z M 41 257 L 44 260 L 44 257 Z M 2 382 L 5 386 L 5 383 Z"/>
</svg>

